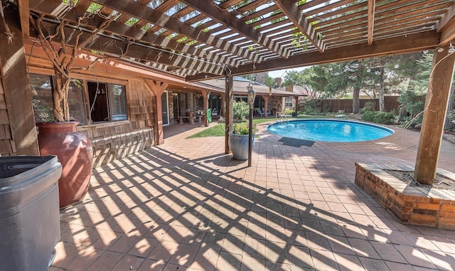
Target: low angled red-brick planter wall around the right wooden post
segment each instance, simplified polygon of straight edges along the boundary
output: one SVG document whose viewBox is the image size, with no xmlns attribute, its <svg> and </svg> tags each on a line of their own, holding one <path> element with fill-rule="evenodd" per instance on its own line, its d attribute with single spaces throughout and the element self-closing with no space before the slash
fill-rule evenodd
<svg viewBox="0 0 455 271">
<path fill-rule="evenodd" d="M 382 169 L 414 171 L 410 166 L 355 163 L 355 184 L 403 224 L 455 230 L 455 191 L 409 186 Z M 455 174 L 437 172 L 455 180 Z"/>
</svg>

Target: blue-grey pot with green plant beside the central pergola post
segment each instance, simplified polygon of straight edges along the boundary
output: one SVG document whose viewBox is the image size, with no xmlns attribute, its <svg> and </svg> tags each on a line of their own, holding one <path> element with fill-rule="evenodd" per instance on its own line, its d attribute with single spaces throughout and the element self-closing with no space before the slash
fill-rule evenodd
<svg viewBox="0 0 455 271">
<path fill-rule="evenodd" d="M 248 130 L 249 124 L 234 124 L 232 130 L 229 132 L 229 147 L 232 151 L 232 156 L 236 160 L 248 159 Z M 252 127 L 252 146 L 255 146 L 255 134 L 257 132 L 256 124 L 253 123 Z"/>
</svg>

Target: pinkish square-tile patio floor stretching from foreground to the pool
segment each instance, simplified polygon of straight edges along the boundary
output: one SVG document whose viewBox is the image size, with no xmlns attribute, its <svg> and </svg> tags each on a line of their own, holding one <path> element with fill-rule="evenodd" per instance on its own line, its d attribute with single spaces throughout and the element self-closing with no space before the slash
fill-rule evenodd
<svg viewBox="0 0 455 271">
<path fill-rule="evenodd" d="M 291 147 L 258 127 L 250 168 L 185 124 L 95 169 L 50 270 L 455 269 L 455 231 L 401 225 L 354 184 L 355 161 L 414 166 L 417 132 Z M 444 140 L 439 167 L 454 165 Z"/>
</svg>

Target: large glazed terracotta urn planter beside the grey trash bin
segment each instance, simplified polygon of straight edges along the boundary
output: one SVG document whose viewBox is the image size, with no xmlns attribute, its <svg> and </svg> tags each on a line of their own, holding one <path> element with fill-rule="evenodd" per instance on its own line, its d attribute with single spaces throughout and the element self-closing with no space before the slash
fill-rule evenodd
<svg viewBox="0 0 455 271">
<path fill-rule="evenodd" d="M 62 164 L 58 180 L 60 208 L 81 201 L 92 176 L 92 144 L 77 132 L 78 122 L 50 122 L 38 125 L 41 155 L 57 155 Z"/>
</svg>

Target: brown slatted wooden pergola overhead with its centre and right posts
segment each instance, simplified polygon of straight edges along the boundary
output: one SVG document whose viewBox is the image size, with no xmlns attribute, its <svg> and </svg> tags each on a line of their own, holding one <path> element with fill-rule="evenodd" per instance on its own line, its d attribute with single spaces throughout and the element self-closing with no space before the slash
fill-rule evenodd
<svg viewBox="0 0 455 271">
<path fill-rule="evenodd" d="M 454 70 L 455 56 L 448 55 L 455 37 L 454 0 L 16 0 L 3 4 L 9 29 L 0 23 L 2 60 L 17 56 L 23 40 L 36 39 L 31 20 L 41 18 L 49 31 L 63 28 L 65 36 L 58 38 L 74 45 L 78 34 L 84 41 L 115 16 L 95 38 L 84 41 L 85 50 L 190 82 L 225 78 L 227 125 L 232 123 L 233 75 L 435 50 L 417 181 L 432 179 L 436 172 Z M 26 73 L 25 63 L 14 67 L 12 78 Z M 4 89 L 9 87 L 6 80 Z M 28 84 L 21 87 L 27 89 Z M 227 142 L 226 152 L 230 152 Z"/>
</svg>

